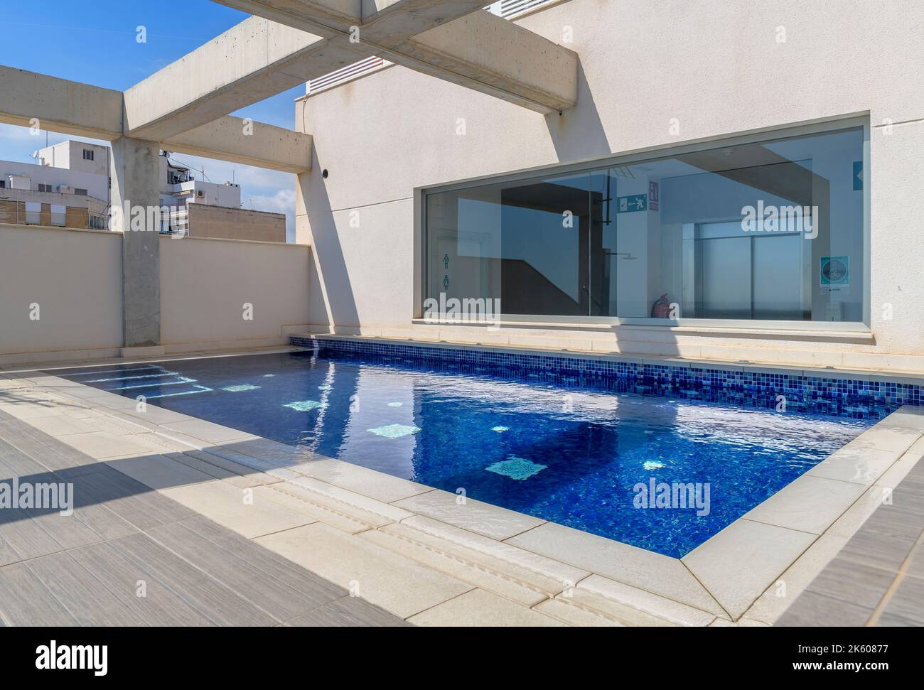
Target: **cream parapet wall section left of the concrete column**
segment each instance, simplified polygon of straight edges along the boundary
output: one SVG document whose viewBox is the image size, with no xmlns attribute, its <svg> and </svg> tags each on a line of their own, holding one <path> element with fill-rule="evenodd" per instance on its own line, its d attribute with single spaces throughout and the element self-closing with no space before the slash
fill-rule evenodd
<svg viewBox="0 0 924 690">
<path fill-rule="evenodd" d="M 62 351 L 111 357 L 121 346 L 122 236 L 0 225 L 0 366 Z"/>
</svg>

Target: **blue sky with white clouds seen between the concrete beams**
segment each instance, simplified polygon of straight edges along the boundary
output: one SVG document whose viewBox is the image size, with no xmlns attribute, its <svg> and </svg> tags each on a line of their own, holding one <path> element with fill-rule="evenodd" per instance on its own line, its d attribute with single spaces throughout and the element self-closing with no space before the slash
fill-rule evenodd
<svg viewBox="0 0 924 690">
<path fill-rule="evenodd" d="M 0 65 L 125 91 L 247 17 L 211 0 L 177 4 L 155 0 L 0 0 Z M 136 40 L 139 26 L 147 30 L 147 42 Z M 234 115 L 291 128 L 295 124 L 293 102 L 304 92 L 304 86 L 299 86 Z M 65 139 L 79 138 L 48 133 L 50 143 Z M 28 129 L 0 125 L 2 160 L 31 163 L 32 151 L 44 145 L 44 132 L 36 142 Z M 213 182 L 230 180 L 233 171 L 241 185 L 244 206 L 285 212 L 291 236 L 295 176 L 197 156 L 176 154 L 173 158 L 194 168 L 204 167 Z"/>
</svg>

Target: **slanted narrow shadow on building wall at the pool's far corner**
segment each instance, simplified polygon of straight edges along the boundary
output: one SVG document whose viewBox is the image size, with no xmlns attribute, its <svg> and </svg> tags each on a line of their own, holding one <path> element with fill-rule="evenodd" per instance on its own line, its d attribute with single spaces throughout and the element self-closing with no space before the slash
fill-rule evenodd
<svg viewBox="0 0 924 690">
<path fill-rule="evenodd" d="M 356 298 L 353 295 L 343 246 L 340 244 L 340 236 L 334 222 L 331 200 L 327 196 L 327 188 L 322 178 L 317 144 L 311 157 L 313 160 L 310 174 L 299 176 L 298 179 L 311 229 L 311 255 L 314 267 L 311 271 L 310 294 L 317 295 L 322 300 L 322 304 L 319 304 L 316 299 L 311 298 L 310 322 L 327 322 L 332 328 L 359 326 Z"/>
</svg>

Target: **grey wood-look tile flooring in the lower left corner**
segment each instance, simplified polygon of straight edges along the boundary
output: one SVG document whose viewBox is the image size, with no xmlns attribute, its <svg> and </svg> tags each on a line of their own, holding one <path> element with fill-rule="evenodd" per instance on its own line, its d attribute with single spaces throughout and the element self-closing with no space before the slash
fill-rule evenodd
<svg viewBox="0 0 924 690">
<path fill-rule="evenodd" d="M 13 478 L 76 509 L 0 510 L 0 625 L 408 624 L 0 411 Z"/>
</svg>

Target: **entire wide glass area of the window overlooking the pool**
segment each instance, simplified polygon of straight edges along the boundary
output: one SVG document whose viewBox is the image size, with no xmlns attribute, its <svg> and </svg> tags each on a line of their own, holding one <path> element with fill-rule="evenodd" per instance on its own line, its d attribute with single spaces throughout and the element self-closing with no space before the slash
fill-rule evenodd
<svg viewBox="0 0 924 690">
<path fill-rule="evenodd" d="M 863 127 L 425 195 L 424 297 L 505 315 L 863 321 Z"/>
</svg>

